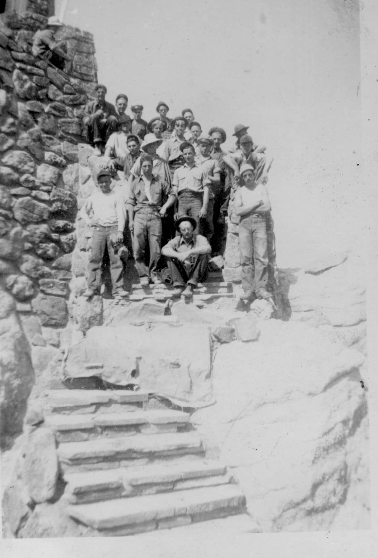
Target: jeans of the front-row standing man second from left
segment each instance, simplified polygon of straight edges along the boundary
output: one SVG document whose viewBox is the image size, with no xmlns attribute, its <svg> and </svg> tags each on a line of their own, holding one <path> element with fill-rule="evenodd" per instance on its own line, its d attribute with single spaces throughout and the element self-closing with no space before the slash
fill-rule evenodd
<svg viewBox="0 0 378 558">
<path fill-rule="evenodd" d="M 134 215 L 134 258 L 139 277 L 156 276 L 160 259 L 162 219 L 157 208 L 141 208 Z M 146 247 L 149 247 L 149 266 L 146 266 Z"/>
</svg>

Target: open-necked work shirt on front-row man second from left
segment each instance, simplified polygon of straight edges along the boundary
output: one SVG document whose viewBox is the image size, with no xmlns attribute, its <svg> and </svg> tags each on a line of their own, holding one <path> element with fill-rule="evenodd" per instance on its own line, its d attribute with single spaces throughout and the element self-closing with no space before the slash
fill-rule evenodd
<svg viewBox="0 0 378 558">
<path fill-rule="evenodd" d="M 160 210 L 170 195 L 174 195 L 171 185 L 162 180 L 159 176 L 152 175 L 152 180 L 149 184 L 148 196 L 146 193 L 146 183 L 144 182 L 144 177 L 139 176 L 138 178 L 135 178 L 130 185 L 127 205 L 135 207 L 135 211 L 152 206 L 157 210 Z"/>
</svg>

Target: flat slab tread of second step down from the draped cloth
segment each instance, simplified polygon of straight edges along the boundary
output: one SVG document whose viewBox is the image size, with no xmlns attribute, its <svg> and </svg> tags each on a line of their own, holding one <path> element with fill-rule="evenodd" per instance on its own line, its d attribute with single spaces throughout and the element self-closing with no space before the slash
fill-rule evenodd
<svg viewBox="0 0 378 558">
<path fill-rule="evenodd" d="M 96 426 L 131 426 L 140 424 L 185 424 L 190 415 L 181 411 L 157 409 L 125 413 L 104 413 L 92 415 L 52 415 L 45 424 L 54 430 L 88 430 Z"/>
</svg>

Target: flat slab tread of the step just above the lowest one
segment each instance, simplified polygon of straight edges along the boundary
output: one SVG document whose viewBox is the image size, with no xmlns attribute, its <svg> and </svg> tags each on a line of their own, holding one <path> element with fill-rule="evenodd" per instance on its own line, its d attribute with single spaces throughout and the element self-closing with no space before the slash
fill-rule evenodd
<svg viewBox="0 0 378 558">
<path fill-rule="evenodd" d="M 130 469 L 106 469 L 104 471 L 88 471 L 86 473 L 65 474 L 68 483 L 66 491 L 71 494 L 82 494 L 94 490 L 112 490 L 122 488 L 126 484 L 139 486 L 143 484 L 172 483 L 178 481 L 214 477 L 224 475 L 226 466 L 217 461 L 187 461 L 161 465 L 153 463 L 144 467 Z"/>
</svg>

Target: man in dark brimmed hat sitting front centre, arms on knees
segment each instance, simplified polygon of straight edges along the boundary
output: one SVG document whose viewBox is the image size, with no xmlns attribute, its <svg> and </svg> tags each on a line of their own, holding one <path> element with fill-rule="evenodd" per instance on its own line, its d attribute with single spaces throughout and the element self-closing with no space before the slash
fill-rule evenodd
<svg viewBox="0 0 378 558">
<path fill-rule="evenodd" d="M 162 248 L 173 280 L 173 297 L 191 299 L 198 282 L 205 281 L 211 246 L 201 234 L 195 234 L 196 219 L 184 215 L 175 223 L 179 236 Z"/>
</svg>

